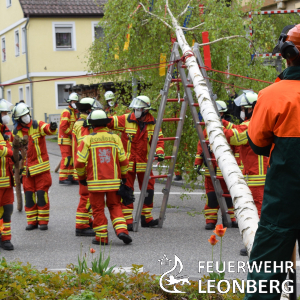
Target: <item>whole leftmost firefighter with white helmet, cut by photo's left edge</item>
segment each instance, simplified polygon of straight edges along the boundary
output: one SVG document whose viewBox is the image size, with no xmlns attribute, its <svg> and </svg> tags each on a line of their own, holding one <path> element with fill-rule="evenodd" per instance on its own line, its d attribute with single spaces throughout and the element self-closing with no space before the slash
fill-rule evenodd
<svg viewBox="0 0 300 300">
<path fill-rule="evenodd" d="M 13 191 L 13 151 L 10 144 L 11 132 L 7 128 L 10 121 L 8 112 L 11 104 L 0 100 L 0 219 L 3 220 L 3 230 L 1 232 L 1 248 L 4 250 L 14 250 L 11 243 L 11 215 L 13 213 L 14 191 Z M 20 157 L 21 159 L 21 157 Z"/>
</svg>

